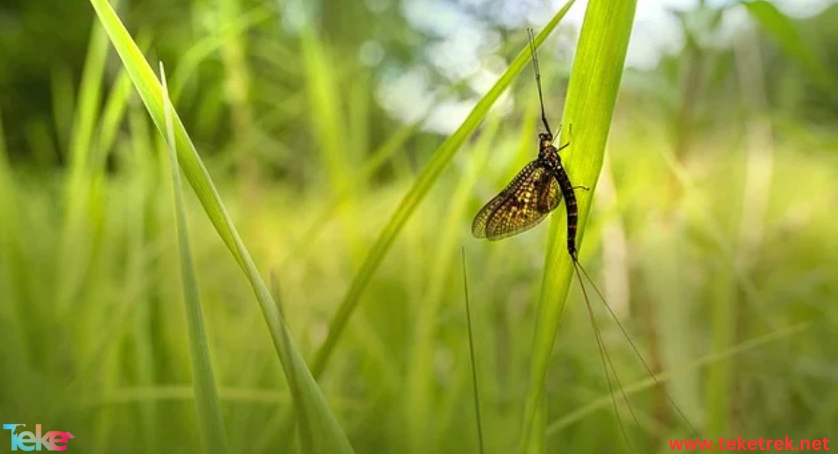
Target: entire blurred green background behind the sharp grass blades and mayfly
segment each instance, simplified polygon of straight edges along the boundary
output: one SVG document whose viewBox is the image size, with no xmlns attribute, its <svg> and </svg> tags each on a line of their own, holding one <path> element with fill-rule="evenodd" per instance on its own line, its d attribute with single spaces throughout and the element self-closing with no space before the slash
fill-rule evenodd
<svg viewBox="0 0 838 454">
<path fill-rule="evenodd" d="M 166 64 L 308 359 L 416 174 L 561 6 L 111 4 Z M 540 51 L 554 125 L 584 8 Z M 706 438 L 838 437 L 835 23 L 830 2 L 638 5 L 581 260 Z M 537 109 L 528 67 L 363 293 L 319 379 L 355 451 L 478 450 L 461 245 L 485 442 L 515 447 L 548 229 L 488 243 L 470 224 L 535 157 Z M 199 451 L 168 154 L 89 3 L 0 3 L 0 126 L 0 423 L 71 431 L 75 452 Z M 185 193 L 231 450 L 296 451 L 265 320 Z M 569 302 L 546 451 L 623 452 L 577 283 Z M 689 427 L 592 303 L 635 450 L 670 451 Z"/>
</svg>

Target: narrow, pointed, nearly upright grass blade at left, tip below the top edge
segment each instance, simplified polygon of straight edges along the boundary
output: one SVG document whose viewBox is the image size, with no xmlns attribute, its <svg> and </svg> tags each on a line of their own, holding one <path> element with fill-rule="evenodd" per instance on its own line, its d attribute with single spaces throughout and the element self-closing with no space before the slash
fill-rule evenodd
<svg viewBox="0 0 838 454">
<path fill-rule="evenodd" d="M 178 229 L 178 250 L 180 251 L 180 271 L 184 283 L 184 304 L 189 338 L 189 358 L 192 363 L 192 386 L 195 393 L 195 410 L 198 415 L 201 446 L 204 452 L 229 452 L 224 419 L 221 417 L 221 405 L 215 390 L 215 377 L 209 359 L 209 343 L 204 330 L 204 312 L 198 295 L 198 281 L 189 249 L 189 230 L 186 224 L 184 192 L 180 183 L 178 154 L 174 151 L 174 129 L 172 126 L 172 106 L 168 101 L 166 75 L 160 64 L 160 79 L 163 80 L 164 110 L 168 139 L 168 158 L 172 171 L 172 192 L 174 214 Z"/>
</svg>

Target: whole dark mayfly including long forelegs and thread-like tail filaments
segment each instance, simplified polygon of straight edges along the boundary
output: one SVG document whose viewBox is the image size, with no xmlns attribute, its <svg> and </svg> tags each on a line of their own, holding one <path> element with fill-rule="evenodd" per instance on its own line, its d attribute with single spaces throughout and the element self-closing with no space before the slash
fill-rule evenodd
<svg viewBox="0 0 838 454">
<path fill-rule="evenodd" d="M 617 384 L 619 385 L 621 392 L 622 385 L 619 383 L 616 370 L 613 368 L 613 364 L 611 364 L 611 359 L 608 357 L 608 352 L 603 344 L 599 328 L 597 328 L 597 323 L 593 318 L 591 304 L 588 301 L 587 291 L 585 291 L 585 286 L 582 281 L 582 274 L 586 276 L 587 281 L 591 282 L 594 291 L 597 292 L 597 295 L 603 300 L 603 302 L 605 302 L 605 299 L 603 298 L 603 294 L 593 283 L 591 276 L 587 274 L 587 271 L 585 271 L 582 267 L 582 264 L 579 263 L 576 245 L 579 211 L 577 207 L 576 193 L 574 193 L 574 191 L 580 188 L 589 190 L 589 188 L 586 186 L 574 186 L 570 177 L 568 177 L 564 166 L 561 164 L 559 152 L 570 146 L 570 142 L 566 142 L 557 148 L 553 145 L 554 136 L 551 132 L 550 124 L 547 122 L 547 116 L 544 110 L 544 95 L 541 90 L 541 71 L 538 67 L 538 57 L 535 54 L 535 39 L 531 28 L 528 28 L 527 32 L 530 37 L 530 52 L 532 54 L 532 64 L 535 72 L 535 85 L 538 88 L 538 101 L 541 106 L 541 123 L 544 125 L 546 132 L 540 132 L 538 135 L 538 157 L 535 157 L 535 160 L 528 163 L 525 168 L 523 168 L 515 176 L 515 178 L 513 178 L 512 181 L 494 197 L 494 199 L 489 200 L 489 203 L 485 204 L 484 207 L 478 211 L 478 214 L 474 217 L 474 221 L 472 223 L 472 234 L 476 238 L 486 238 L 488 240 L 500 240 L 512 235 L 520 234 L 521 232 L 530 230 L 535 227 L 535 225 L 540 224 L 541 221 L 546 218 L 547 214 L 550 214 L 551 211 L 556 209 L 559 204 L 561 204 L 561 199 L 565 200 L 567 214 L 567 253 L 571 256 L 579 285 L 582 286 L 582 294 L 585 297 L 587 311 L 591 317 L 594 333 L 597 337 L 597 347 L 599 348 L 600 354 L 603 358 L 603 368 L 605 369 L 606 378 L 608 379 L 608 388 L 611 390 L 613 399 L 614 394 L 611 387 L 611 379 L 609 378 L 610 374 L 608 366 L 606 365 L 606 359 L 608 360 L 613 377 L 617 380 Z M 607 302 L 606 307 L 608 307 Z M 612 316 L 614 316 L 610 307 L 608 307 L 608 311 L 611 312 Z M 638 348 L 634 346 L 634 342 L 631 338 L 629 338 L 629 333 L 623 328 L 616 316 L 614 316 L 614 319 L 617 321 L 618 326 L 620 330 L 623 331 L 625 337 L 629 339 L 629 343 L 634 349 L 634 353 L 637 354 L 641 363 L 644 364 L 647 372 L 649 372 L 652 376 L 655 383 L 660 386 L 660 382 L 658 382 L 658 379 L 655 378 L 654 373 L 649 368 L 649 365 L 646 364 L 642 355 L 640 355 Z M 695 428 L 691 425 L 690 421 L 686 418 L 678 405 L 675 405 L 675 401 L 672 400 L 670 395 L 668 395 L 665 391 L 664 394 L 670 401 L 670 404 L 673 405 L 675 410 L 677 410 L 680 414 L 680 417 L 686 421 L 688 426 L 690 426 L 691 431 L 696 434 Z M 623 400 L 626 400 L 626 403 L 628 404 L 628 398 L 624 393 Z M 619 415 L 616 400 L 613 400 L 613 405 L 614 411 L 617 415 Z M 634 415 L 634 410 L 631 410 L 631 405 L 629 405 L 629 411 L 631 412 L 635 423 L 637 423 L 637 418 Z M 623 438 L 625 441 L 629 444 L 629 446 L 631 446 L 622 424 L 620 424 L 620 430 L 623 432 Z"/>
</svg>

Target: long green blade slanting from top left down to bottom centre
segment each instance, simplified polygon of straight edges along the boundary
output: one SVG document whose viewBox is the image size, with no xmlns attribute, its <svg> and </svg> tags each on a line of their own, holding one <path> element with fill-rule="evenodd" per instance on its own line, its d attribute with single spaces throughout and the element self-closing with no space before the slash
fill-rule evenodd
<svg viewBox="0 0 838 454">
<path fill-rule="evenodd" d="M 153 70 L 147 64 L 142 52 L 116 16 L 111 5 L 106 0 L 91 0 L 91 4 L 96 9 L 96 15 L 106 29 L 120 59 L 122 59 L 122 64 L 131 76 L 134 87 L 137 89 L 149 115 L 158 131 L 164 134 L 167 127 L 163 109 L 163 91 Z M 174 147 L 178 153 L 178 163 L 184 171 L 184 176 L 192 186 L 200 204 L 204 207 L 204 212 L 220 235 L 221 240 L 224 241 L 227 249 L 230 250 L 235 261 L 241 266 L 242 271 L 250 281 L 286 378 L 289 379 L 289 374 L 296 375 L 293 377 L 293 383 L 296 383 L 302 390 L 300 395 L 302 401 L 298 402 L 298 405 L 303 405 L 305 408 L 308 426 L 312 428 L 313 452 L 328 454 L 353 452 L 349 440 L 340 429 L 337 419 L 329 410 L 323 393 L 318 388 L 313 376 L 308 372 L 303 356 L 299 353 L 296 345 L 292 343 L 292 336 L 290 333 L 286 333 L 288 328 L 285 321 L 280 317 L 270 291 L 261 279 L 256 264 L 235 230 L 230 215 L 221 202 L 220 195 L 211 178 L 209 178 L 209 173 L 204 167 L 192 139 L 177 116 L 177 112 L 172 112 L 172 129 Z M 289 379 L 289 381 L 292 380 Z"/>
</svg>

